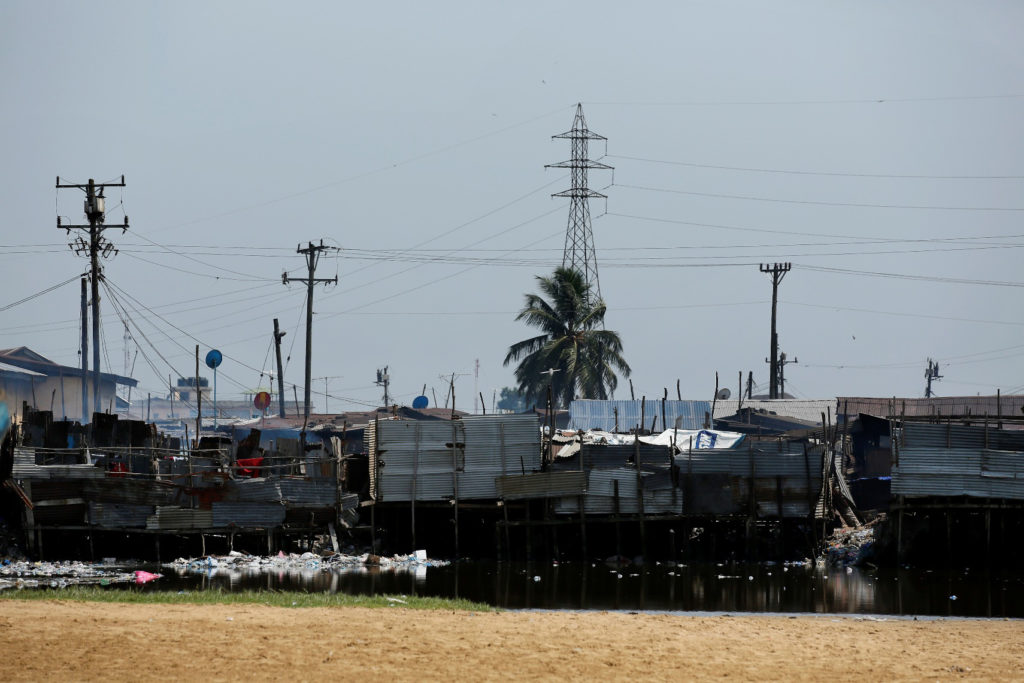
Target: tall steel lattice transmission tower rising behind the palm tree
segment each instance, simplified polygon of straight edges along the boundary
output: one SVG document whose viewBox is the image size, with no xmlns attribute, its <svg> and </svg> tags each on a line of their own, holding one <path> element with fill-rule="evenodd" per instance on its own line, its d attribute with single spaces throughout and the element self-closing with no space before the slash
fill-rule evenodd
<svg viewBox="0 0 1024 683">
<path fill-rule="evenodd" d="M 583 104 L 577 104 L 572 129 L 560 135 L 552 135 L 552 139 L 562 138 L 572 140 L 572 158 L 558 164 L 549 164 L 545 168 L 570 169 L 572 186 L 569 189 L 556 193 L 552 197 L 567 197 L 569 204 L 569 220 L 565 228 L 565 250 L 562 253 L 562 267 L 570 267 L 584 276 L 590 286 L 591 295 L 601 298 L 601 283 L 597 278 L 597 253 L 594 250 L 594 232 L 590 224 L 590 204 L 592 197 L 606 199 L 605 195 L 587 186 L 588 169 L 611 169 L 611 166 L 592 161 L 588 157 L 590 140 L 607 140 L 587 128 L 587 120 L 583 116 Z"/>
</svg>

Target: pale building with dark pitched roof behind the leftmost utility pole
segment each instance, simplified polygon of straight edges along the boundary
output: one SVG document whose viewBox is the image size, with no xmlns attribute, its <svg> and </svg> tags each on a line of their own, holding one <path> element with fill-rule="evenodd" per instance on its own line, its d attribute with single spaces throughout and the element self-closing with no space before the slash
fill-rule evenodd
<svg viewBox="0 0 1024 683">
<path fill-rule="evenodd" d="M 114 413 L 118 410 L 119 386 L 135 387 L 130 377 L 111 373 L 99 374 L 99 405 L 90 405 L 91 413 Z M 86 377 L 88 400 L 92 402 L 92 373 Z M 52 411 L 54 419 L 82 419 L 82 369 L 53 362 L 27 346 L 0 350 L 0 400 L 15 421 L 22 415 L 23 403 L 39 411 Z"/>
</svg>

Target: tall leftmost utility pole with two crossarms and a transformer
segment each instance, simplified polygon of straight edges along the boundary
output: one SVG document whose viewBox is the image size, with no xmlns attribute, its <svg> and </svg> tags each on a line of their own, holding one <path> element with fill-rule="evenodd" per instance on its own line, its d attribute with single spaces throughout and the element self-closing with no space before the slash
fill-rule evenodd
<svg viewBox="0 0 1024 683">
<path fill-rule="evenodd" d="M 76 254 L 89 254 L 89 269 L 92 282 L 92 409 L 99 410 L 99 279 L 102 276 L 102 268 L 99 267 L 99 257 L 110 258 L 112 254 L 117 254 L 118 250 L 114 244 L 103 238 L 103 230 L 112 225 L 104 225 L 106 219 L 106 202 L 103 199 L 105 187 L 124 187 L 125 177 L 121 176 L 121 182 L 96 182 L 89 178 L 85 184 L 65 183 L 61 184 L 60 176 L 57 176 L 57 188 L 77 187 L 85 191 L 85 217 L 89 220 L 88 225 L 65 225 L 57 216 L 57 228 L 63 228 L 70 236 L 72 230 L 82 230 L 88 232 L 89 241 L 79 236 L 75 242 L 69 245 Z M 98 188 L 98 194 L 97 194 Z M 121 233 L 128 230 L 128 216 L 125 216 L 124 225 L 118 225 Z M 82 378 L 85 382 L 85 378 Z"/>
</svg>

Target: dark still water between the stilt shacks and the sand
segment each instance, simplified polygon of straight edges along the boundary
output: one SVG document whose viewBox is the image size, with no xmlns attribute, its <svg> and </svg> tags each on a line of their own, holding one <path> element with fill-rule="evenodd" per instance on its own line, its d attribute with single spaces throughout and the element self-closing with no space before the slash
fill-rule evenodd
<svg viewBox="0 0 1024 683">
<path fill-rule="evenodd" d="M 970 569 L 848 571 L 845 567 L 780 564 L 613 566 L 600 562 L 461 561 L 410 570 L 160 570 L 163 579 L 131 590 L 419 595 L 465 598 L 511 609 L 1024 617 L 1024 577 Z"/>
</svg>

